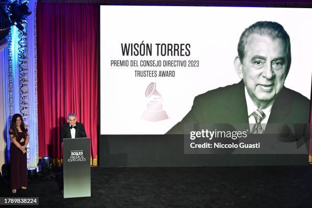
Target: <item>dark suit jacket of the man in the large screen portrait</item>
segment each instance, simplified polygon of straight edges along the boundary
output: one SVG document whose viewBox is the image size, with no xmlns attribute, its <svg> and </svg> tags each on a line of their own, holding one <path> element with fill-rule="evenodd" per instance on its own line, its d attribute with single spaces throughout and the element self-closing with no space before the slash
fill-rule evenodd
<svg viewBox="0 0 312 208">
<path fill-rule="evenodd" d="M 309 110 L 309 99 L 283 87 L 275 98 L 268 123 L 306 124 L 309 122 Z M 248 124 L 243 80 L 237 84 L 220 87 L 196 96 L 190 112 L 167 134 L 185 134 L 186 123 Z"/>
</svg>

